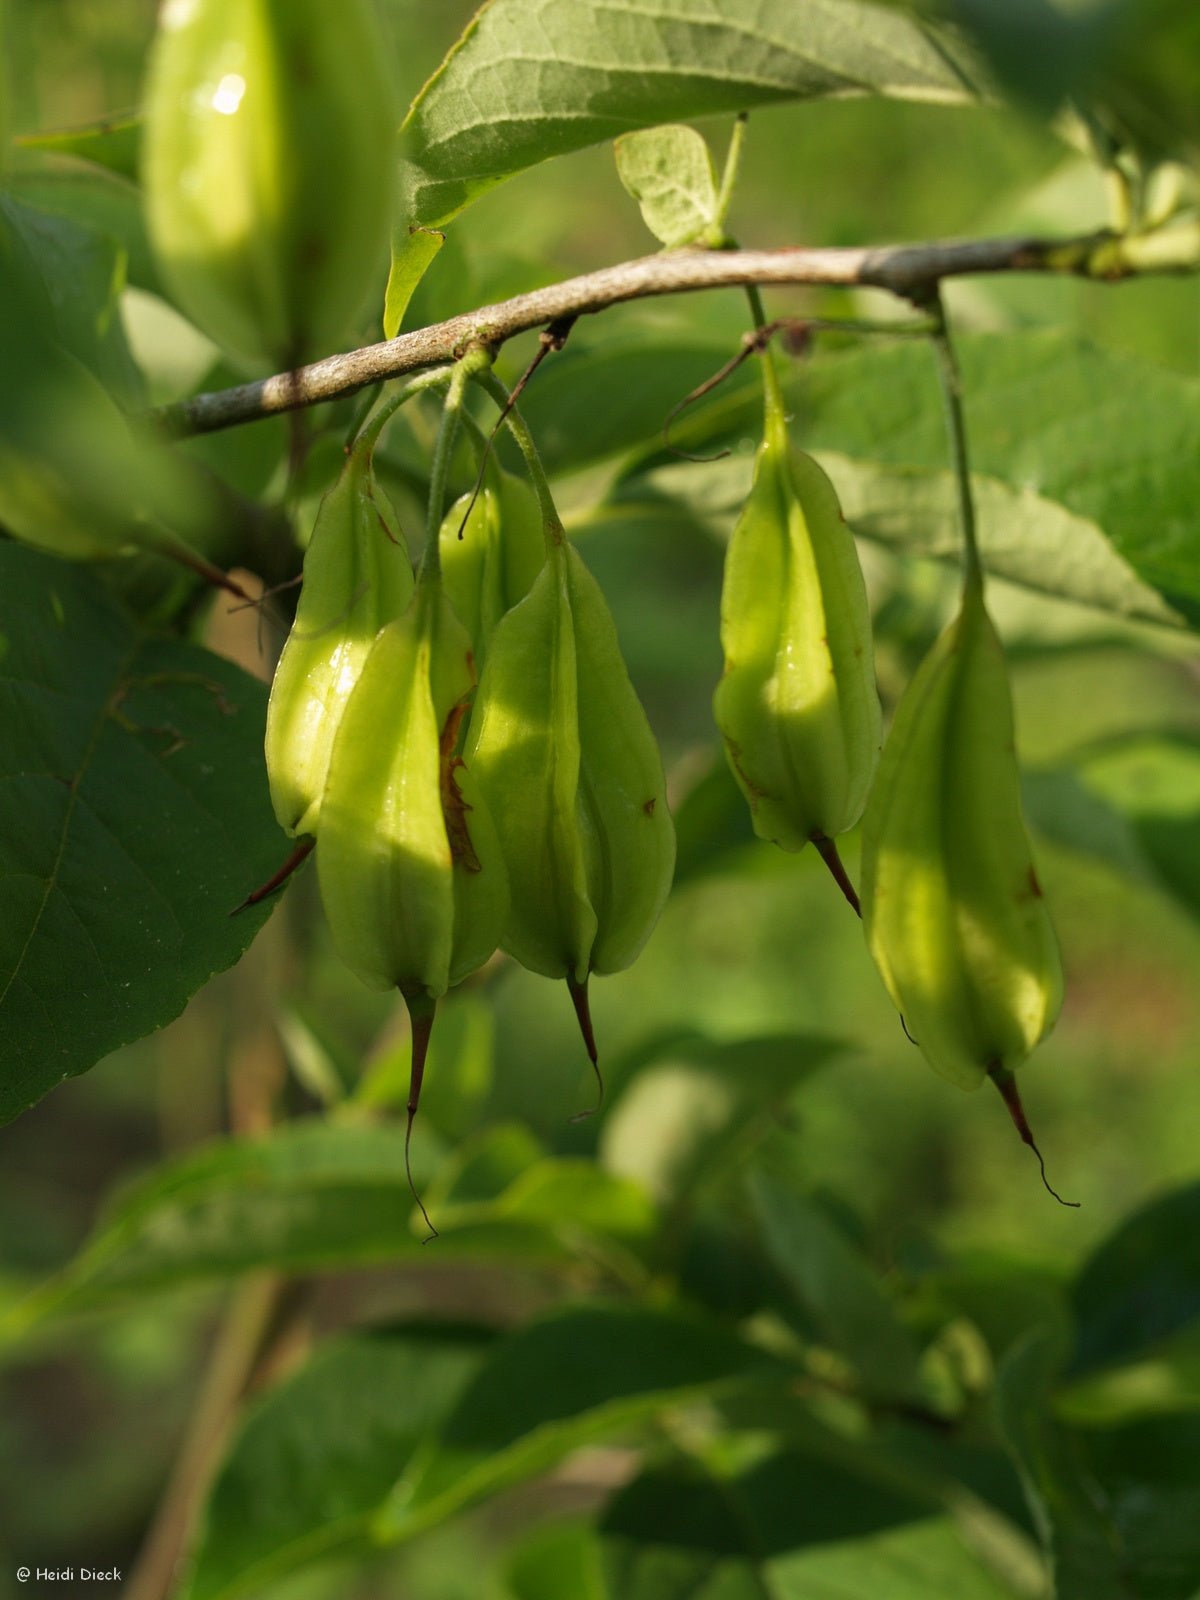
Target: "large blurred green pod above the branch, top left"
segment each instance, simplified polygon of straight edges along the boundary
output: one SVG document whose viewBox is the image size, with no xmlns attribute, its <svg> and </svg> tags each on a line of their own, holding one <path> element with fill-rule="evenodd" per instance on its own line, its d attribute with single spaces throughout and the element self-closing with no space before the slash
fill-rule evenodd
<svg viewBox="0 0 1200 1600">
<path fill-rule="evenodd" d="M 347 331 L 381 274 L 395 104 L 373 0 L 163 0 L 146 83 L 150 242 L 254 366 Z"/>
</svg>

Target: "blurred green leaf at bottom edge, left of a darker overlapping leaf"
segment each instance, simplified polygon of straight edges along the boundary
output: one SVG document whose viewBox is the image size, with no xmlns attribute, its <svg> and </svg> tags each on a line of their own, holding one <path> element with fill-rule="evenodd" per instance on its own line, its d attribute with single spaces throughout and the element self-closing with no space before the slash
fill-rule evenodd
<svg viewBox="0 0 1200 1600">
<path fill-rule="evenodd" d="M 232 1600 L 366 1546 L 486 1339 L 435 1323 L 336 1339 L 253 1405 L 208 1498 L 186 1600 Z"/>
</svg>

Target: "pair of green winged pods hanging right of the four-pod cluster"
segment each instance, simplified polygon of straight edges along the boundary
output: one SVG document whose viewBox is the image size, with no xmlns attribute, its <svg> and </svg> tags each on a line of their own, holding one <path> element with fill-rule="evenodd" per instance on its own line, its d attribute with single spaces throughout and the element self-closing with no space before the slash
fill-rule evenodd
<svg viewBox="0 0 1200 1600">
<path fill-rule="evenodd" d="M 944 320 L 939 349 L 952 365 Z M 830 866 L 934 1072 L 963 1088 L 990 1078 L 1037 1154 L 1013 1069 L 1054 1026 L 1062 971 L 1021 813 L 970 483 L 960 611 L 904 693 L 875 771 L 880 712 L 854 544 L 829 478 L 789 442 L 770 350 L 763 376 L 766 437 L 722 595 L 714 704 L 730 763 L 755 832 L 786 850 L 811 842 Z M 950 414 L 960 427 L 957 397 Z M 962 456 L 965 469 L 965 443 Z M 832 842 L 859 818 L 861 906 Z"/>
</svg>

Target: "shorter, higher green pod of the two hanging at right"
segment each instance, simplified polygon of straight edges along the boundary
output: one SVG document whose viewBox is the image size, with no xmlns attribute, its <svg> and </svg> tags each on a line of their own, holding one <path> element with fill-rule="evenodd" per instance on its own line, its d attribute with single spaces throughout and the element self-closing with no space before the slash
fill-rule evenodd
<svg viewBox="0 0 1200 1600">
<path fill-rule="evenodd" d="M 722 590 L 714 714 L 754 830 L 802 850 L 853 827 L 880 747 L 870 613 L 834 486 L 768 400 Z"/>
</svg>

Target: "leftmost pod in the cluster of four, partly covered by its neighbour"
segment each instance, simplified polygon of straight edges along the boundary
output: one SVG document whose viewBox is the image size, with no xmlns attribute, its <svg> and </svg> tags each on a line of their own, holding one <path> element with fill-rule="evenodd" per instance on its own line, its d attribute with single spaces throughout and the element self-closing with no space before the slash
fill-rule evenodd
<svg viewBox="0 0 1200 1600">
<path fill-rule="evenodd" d="M 413 566 L 360 442 L 317 512 L 304 587 L 267 709 L 267 778 L 280 827 L 314 834 L 342 710 L 376 634 L 403 616 Z"/>
</svg>

